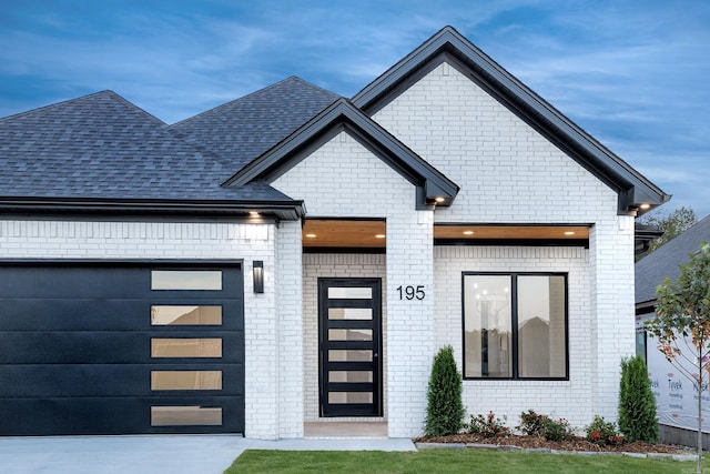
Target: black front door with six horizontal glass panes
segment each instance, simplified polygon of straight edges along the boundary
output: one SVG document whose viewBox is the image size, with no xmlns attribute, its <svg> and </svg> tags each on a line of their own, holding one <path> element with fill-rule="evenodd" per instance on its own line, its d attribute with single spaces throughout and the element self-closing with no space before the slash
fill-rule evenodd
<svg viewBox="0 0 710 474">
<path fill-rule="evenodd" d="M 321 416 L 382 416 L 381 293 L 381 279 L 318 279 Z"/>
</svg>

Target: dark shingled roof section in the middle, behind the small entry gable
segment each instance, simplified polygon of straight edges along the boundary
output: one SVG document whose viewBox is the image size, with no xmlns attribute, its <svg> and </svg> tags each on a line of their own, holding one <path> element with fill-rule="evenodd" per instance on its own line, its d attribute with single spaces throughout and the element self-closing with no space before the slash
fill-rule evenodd
<svg viewBox="0 0 710 474">
<path fill-rule="evenodd" d="M 337 99 L 339 95 L 291 77 L 170 130 L 224 157 L 237 172 Z"/>
</svg>

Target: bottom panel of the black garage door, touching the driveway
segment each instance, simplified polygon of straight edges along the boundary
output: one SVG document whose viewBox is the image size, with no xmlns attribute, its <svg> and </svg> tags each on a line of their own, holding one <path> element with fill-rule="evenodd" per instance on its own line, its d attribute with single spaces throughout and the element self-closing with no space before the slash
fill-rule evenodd
<svg viewBox="0 0 710 474">
<path fill-rule="evenodd" d="M 217 407 L 220 425 L 152 426 L 151 406 L 174 405 L 172 399 L 11 399 L 0 404 L 0 420 L 6 435 L 124 434 L 134 433 L 224 433 L 240 432 L 244 426 L 241 396 L 185 399 L 180 406 Z M 190 421 L 189 421 L 190 422 Z"/>
</svg>

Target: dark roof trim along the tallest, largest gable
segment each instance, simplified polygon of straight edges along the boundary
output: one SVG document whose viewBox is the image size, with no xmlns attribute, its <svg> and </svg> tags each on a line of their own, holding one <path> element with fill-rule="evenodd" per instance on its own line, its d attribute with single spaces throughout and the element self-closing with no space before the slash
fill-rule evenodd
<svg viewBox="0 0 710 474">
<path fill-rule="evenodd" d="M 484 87 L 617 192 L 619 214 L 636 214 L 641 204 L 655 208 L 670 200 L 669 194 L 562 115 L 452 27 L 442 29 L 375 79 L 353 98 L 353 103 L 366 113 L 374 114 L 398 94 L 403 84 L 418 78 L 422 70 L 433 69 L 433 62 L 438 64 L 444 60 Z"/>
</svg>

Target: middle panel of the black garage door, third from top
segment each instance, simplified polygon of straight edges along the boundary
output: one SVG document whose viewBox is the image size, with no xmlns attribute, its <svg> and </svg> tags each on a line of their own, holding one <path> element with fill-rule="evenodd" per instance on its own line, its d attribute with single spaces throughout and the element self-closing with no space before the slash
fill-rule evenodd
<svg viewBox="0 0 710 474">
<path fill-rule="evenodd" d="M 243 360 L 242 342 L 241 331 L 0 332 L 0 364 L 234 363 Z"/>
</svg>

